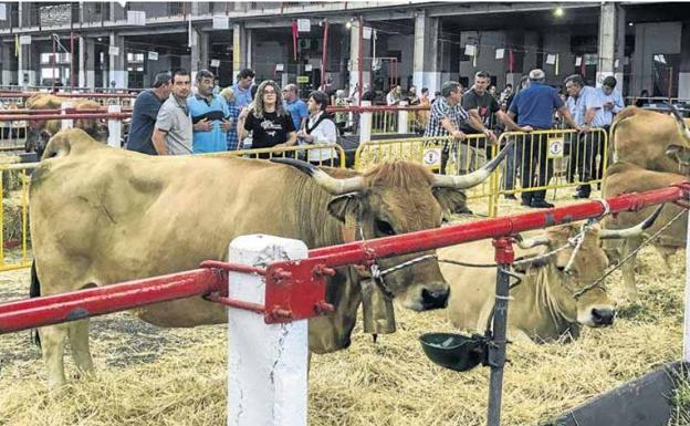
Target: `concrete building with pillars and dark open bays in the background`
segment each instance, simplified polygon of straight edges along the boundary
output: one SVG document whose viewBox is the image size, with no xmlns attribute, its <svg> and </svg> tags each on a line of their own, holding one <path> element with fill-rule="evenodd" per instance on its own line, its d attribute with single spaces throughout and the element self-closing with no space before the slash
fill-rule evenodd
<svg viewBox="0 0 690 426">
<path fill-rule="evenodd" d="M 4 6 L 2 8 L 1 6 Z M 242 67 L 307 91 L 438 90 L 533 67 L 560 85 L 616 75 L 625 95 L 690 97 L 690 6 L 543 2 L 4 2 L 2 85 L 148 87 L 166 70 Z M 325 54 L 324 54 L 325 50 Z M 684 53 L 684 54 L 683 54 Z"/>
</svg>

